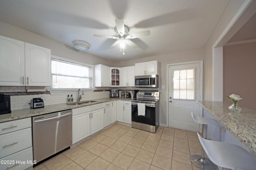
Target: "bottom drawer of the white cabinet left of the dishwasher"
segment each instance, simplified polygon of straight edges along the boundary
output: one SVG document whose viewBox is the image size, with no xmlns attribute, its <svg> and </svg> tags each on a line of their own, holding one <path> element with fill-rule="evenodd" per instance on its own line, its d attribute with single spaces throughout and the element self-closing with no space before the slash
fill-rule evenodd
<svg viewBox="0 0 256 170">
<path fill-rule="evenodd" d="M 4 160 L 4 163 L 8 163 L 1 164 L 1 170 L 24 170 L 33 166 L 33 149 L 30 147 L 0 160 Z"/>
</svg>

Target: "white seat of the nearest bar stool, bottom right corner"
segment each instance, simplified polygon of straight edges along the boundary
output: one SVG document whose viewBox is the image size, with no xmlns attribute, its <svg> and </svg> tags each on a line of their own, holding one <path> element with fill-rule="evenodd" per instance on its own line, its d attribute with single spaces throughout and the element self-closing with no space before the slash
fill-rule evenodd
<svg viewBox="0 0 256 170">
<path fill-rule="evenodd" d="M 198 139 L 210 160 L 223 168 L 236 170 L 255 170 L 256 159 L 244 148 L 231 143 Z"/>
</svg>

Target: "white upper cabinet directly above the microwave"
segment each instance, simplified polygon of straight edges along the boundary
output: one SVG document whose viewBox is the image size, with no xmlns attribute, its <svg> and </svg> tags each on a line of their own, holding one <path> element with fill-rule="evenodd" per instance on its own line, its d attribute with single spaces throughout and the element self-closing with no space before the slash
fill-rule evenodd
<svg viewBox="0 0 256 170">
<path fill-rule="evenodd" d="M 135 63 L 135 76 L 158 74 L 157 65 L 158 65 L 157 60 L 148 61 L 144 63 Z"/>
</svg>

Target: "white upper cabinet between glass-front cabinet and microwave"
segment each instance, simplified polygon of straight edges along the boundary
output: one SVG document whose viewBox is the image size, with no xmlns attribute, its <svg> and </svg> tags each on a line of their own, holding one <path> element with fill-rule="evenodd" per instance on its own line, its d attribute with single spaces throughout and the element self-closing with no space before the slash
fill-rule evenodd
<svg viewBox="0 0 256 170">
<path fill-rule="evenodd" d="M 121 68 L 121 86 L 134 87 L 135 66 Z"/>
</svg>

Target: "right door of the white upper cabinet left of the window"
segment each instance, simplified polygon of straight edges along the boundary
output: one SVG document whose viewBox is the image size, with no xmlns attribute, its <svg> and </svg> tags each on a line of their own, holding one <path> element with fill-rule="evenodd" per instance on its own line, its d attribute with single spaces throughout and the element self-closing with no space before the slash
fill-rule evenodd
<svg viewBox="0 0 256 170">
<path fill-rule="evenodd" d="M 26 86 L 51 86 L 51 50 L 25 43 Z"/>
</svg>

